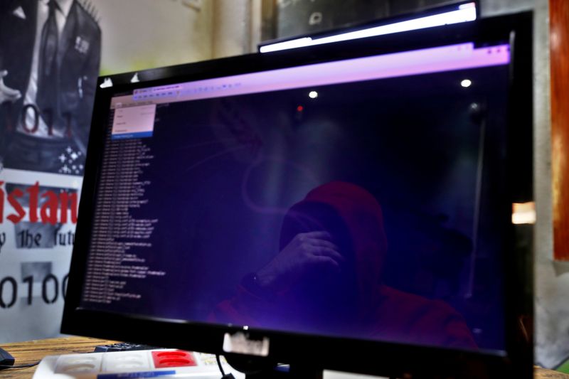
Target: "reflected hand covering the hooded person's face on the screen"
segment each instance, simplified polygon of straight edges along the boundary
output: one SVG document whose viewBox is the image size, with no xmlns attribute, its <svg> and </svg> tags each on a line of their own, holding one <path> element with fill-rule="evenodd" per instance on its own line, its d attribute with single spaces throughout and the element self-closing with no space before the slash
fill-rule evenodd
<svg viewBox="0 0 569 379">
<path fill-rule="evenodd" d="M 260 287 L 277 292 L 290 287 L 299 277 L 312 269 L 340 272 L 344 257 L 324 231 L 299 233 L 273 260 L 259 272 Z"/>
</svg>

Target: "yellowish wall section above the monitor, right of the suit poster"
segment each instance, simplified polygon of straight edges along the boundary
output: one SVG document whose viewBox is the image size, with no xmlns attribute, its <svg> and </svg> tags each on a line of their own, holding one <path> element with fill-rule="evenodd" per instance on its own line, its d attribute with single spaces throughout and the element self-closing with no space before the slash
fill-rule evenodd
<svg viewBox="0 0 569 379">
<path fill-rule="evenodd" d="M 212 58 L 212 0 L 97 0 L 96 7 L 102 75 Z"/>
</svg>

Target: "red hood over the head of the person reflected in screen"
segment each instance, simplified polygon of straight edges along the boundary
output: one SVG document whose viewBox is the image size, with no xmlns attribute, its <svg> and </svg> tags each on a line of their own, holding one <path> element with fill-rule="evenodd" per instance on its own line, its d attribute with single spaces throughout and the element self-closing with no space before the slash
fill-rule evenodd
<svg viewBox="0 0 569 379">
<path fill-rule="evenodd" d="M 280 247 L 304 231 L 327 230 L 336 245 L 349 250 L 355 267 L 360 311 L 373 309 L 379 297 L 387 239 L 381 205 L 368 191 L 352 183 L 333 181 L 310 191 L 290 208 L 281 230 Z M 338 238 L 338 236 L 341 237 Z M 360 314 L 367 318 L 371 314 Z"/>
</svg>

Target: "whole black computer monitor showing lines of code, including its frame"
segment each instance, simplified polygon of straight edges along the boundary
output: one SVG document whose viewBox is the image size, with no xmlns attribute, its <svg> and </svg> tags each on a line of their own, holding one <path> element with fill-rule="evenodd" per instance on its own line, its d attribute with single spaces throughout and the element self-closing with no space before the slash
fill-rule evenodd
<svg viewBox="0 0 569 379">
<path fill-rule="evenodd" d="M 100 78 L 62 331 L 529 377 L 531 56 L 519 14 Z"/>
</svg>

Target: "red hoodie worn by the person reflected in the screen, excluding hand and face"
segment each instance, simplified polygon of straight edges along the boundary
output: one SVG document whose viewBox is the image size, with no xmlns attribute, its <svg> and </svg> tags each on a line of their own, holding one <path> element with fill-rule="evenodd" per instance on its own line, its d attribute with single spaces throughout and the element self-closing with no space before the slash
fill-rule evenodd
<svg viewBox="0 0 569 379">
<path fill-rule="evenodd" d="M 281 249 L 302 231 L 299 225 L 314 219 L 319 220 L 316 222 L 319 226 L 312 225 L 312 230 L 324 229 L 332 235 L 344 235 L 336 244 L 350 251 L 347 256 L 355 269 L 355 285 L 339 294 L 338 304 L 308 311 L 309 301 L 299 299 L 303 292 L 285 289 L 275 294 L 263 293 L 244 281 L 233 299 L 216 306 L 211 321 L 399 343 L 477 348 L 462 316 L 444 301 L 425 299 L 381 284 L 387 239 L 381 206 L 371 193 L 345 182 L 314 188 L 285 215 Z M 336 319 L 336 314 L 342 316 Z"/>
</svg>

